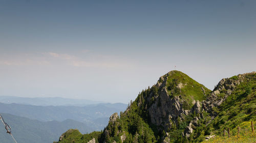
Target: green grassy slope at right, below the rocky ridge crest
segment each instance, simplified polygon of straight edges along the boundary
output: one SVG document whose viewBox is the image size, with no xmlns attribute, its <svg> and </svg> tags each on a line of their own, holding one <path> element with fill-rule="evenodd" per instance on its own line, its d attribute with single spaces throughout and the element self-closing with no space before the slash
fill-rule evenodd
<svg viewBox="0 0 256 143">
<path fill-rule="evenodd" d="M 237 79 L 237 76 L 231 78 Z M 201 120 L 201 126 L 198 127 L 199 132 L 194 133 L 195 142 L 202 141 L 204 136 L 210 133 L 219 136 L 216 140 L 221 140 L 220 135 L 223 135 L 223 129 L 230 128 L 230 133 L 234 136 L 237 134 L 238 126 L 246 128 L 245 124 L 248 124 L 249 121 L 253 121 L 256 124 L 256 74 L 247 74 L 244 81 L 236 87 L 236 90 L 228 96 L 220 108 L 215 108 L 215 112 L 218 116 L 209 125 L 205 125 L 210 121 L 209 118 L 206 117 Z M 250 129 L 247 128 L 247 130 Z M 249 138 L 253 139 L 253 137 L 256 140 L 255 135 L 243 136 L 244 141 Z M 236 137 L 231 138 L 230 141 L 233 139 L 236 139 Z M 228 140 L 225 139 L 223 141 Z"/>
</svg>

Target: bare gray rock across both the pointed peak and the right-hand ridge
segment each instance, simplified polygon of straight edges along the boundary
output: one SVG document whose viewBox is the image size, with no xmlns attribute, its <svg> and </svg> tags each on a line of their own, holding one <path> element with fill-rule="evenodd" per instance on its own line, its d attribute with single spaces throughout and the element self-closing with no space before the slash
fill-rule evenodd
<svg viewBox="0 0 256 143">
<path fill-rule="evenodd" d="M 177 123 L 178 118 L 184 120 L 184 117 L 189 115 L 189 113 L 196 113 L 196 115 L 206 110 L 207 112 L 212 112 L 213 107 L 219 106 L 231 93 L 232 91 L 239 85 L 246 74 L 238 75 L 238 79 L 232 78 L 224 78 L 222 79 L 215 90 L 206 98 L 205 101 L 194 101 L 194 106 L 191 110 L 185 110 L 182 107 L 182 99 L 180 96 L 176 96 L 170 98 L 166 90 L 166 77 L 160 77 L 158 83 L 156 84 L 157 87 L 161 90 L 158 95 L 150 95 L 150 98 L 154 97 L 155 102 L 148 107 L 148 115 L 150 116 L 151 122 L 156 126 L 164 127 L 166 131 L 168 128 L 172 127 L 172 123 Z M 160 82 L 161 81 L 161 82 Z M 183 87 L 183 84 L 177 85 L 178 89 Z M 204 89 L 202 91 L 205 94 Z M 225 91 L 224 96 L 220 94 Z M 148 102 L 150 100 L 148 98 Z M 161 104 L 158 104 L 161 103 Z M 211 115 L 214 118 L 214 115 Z M 193 127 L 198 126 L 199 117 L 195 117 L 192 121 L 190 121 L 189 126 L 186 127 L 184 131 L 184 136 L 189 137 L 190 134 L 193 132 Z M 160 128 L 159 128 L 160 129 Z"/>
</svg>

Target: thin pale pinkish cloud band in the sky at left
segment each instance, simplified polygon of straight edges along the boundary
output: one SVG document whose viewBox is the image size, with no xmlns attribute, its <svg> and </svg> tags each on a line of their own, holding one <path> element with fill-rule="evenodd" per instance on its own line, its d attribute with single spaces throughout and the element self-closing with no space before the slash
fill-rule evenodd
<svg viewBox="0 0 256 143">
<path fill-rule="evenodd" d="M 0 65 L 29 66 L 29 65 L 62 65 L 73 67 L 129 67 L 129 63 L 110 55 L 88 54 L 81 58 L 67 53 L 44 52 L 40 54 L 9 55 L 0 58 Z"/>
</svg>

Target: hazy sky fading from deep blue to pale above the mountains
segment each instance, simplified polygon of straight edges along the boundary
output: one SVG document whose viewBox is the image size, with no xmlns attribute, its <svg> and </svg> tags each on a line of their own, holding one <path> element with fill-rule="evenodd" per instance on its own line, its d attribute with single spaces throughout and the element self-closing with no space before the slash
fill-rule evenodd
<svg viewBox="0 0 256 143">
<path fill-rule="evenodd" d="M 175 69 L 212 90 L 255 55 L 254 0 L 0 0 L 0 96 L 128 103 Z"/>
</svg>

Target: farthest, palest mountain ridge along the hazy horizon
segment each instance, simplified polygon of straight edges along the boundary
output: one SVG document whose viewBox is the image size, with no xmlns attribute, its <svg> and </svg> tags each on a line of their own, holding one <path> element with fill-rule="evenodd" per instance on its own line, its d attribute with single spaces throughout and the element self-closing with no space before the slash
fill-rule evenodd
<svg viewBox="0 0 256 143">
<path fill-rule="evenodd" d="M 92 104 L 106 103 L 99 101 L 91 101 L 86 99 L 69 99 L 61 97 L 16 97 L 16 96 L 0 96 L 2 103 L 17 103 L 36 106 L 86 106 Z"/>
</svg>

